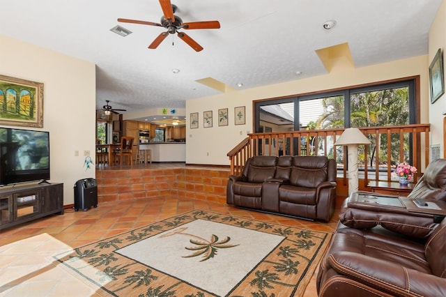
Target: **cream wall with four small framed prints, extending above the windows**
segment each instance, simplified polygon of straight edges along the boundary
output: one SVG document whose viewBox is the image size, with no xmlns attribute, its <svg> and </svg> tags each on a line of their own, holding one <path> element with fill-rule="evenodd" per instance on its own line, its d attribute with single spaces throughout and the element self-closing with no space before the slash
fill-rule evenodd
<svg viewBox="0 0 446 297">
<path fill-rule="evenodd" d="M 227 153 L 253 131 L 253 101 L 314 91 L 356 86 L 387 79 L 420 75 L 421 123 L 429 123 L 428 57 L 392 61 L 374 66 L 338 70 L 335 73 L 297 79 L 292 82 L 262 86 L 243 91 L 229 91 L 186 101 L 187 164 L 229 165 Z M 246 106 L 246 124 L 234 125 L 234 107 Z M 229 125 L 219 127 L 218 109 L 229 108 Z M 213 111 L 213 127 L 203 128 L 203 112 Z M 199 112 L 199 128 L 190 129 L 190 113 Z M 441 135 L 440 135 L 441 136 Z M 424 149 L 424 148 L 422 148 Z"/>
</svg>

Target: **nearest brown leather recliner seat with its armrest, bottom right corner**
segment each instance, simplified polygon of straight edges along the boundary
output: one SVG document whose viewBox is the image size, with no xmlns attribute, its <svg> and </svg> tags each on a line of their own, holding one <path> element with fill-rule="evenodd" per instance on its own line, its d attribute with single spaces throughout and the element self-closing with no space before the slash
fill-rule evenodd
<svg viewBox="0 0 446 297">
<path fill-rule="evenodd" d="M 339 223 L 321 261 L 319 297 L 446 296 L 446 220 L 425 243 Z"/>
</svg>

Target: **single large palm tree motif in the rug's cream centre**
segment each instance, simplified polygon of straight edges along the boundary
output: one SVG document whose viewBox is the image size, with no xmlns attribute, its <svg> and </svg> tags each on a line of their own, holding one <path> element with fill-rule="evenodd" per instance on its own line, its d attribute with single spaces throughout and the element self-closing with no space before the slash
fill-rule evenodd
<svg viewBox="0 0 446 297">
<path fill-rule="evenodd" d="M 227 243 L 229 243 L 229 241 L 231 241 L 231 237 L 229 237 L 229 236 L 226 236 L 226 238 L 219 241 L 218 236 L 215 234 L 212 234 L 210 236 L 210 241 L 206 241 L 206 239 L 201 238 L 199 236 L 195 236 L 194 234 L 183 233 L 183 231 L 185 231 L 186 229 L 187 229 L 187 227 L 179 228 L 179 229 L 176 229 L 175 231 L 171 231 L 167 234 L 160 236 L 160 238 L 174 236 L 176 234 L 191 236 L 192 239 L 190 239 L 190 243 L 197 245 L 197 246 L 192 247 L 192 248 L 185 247 L 185 249 L 192 250 L 195 252 L 193 252 L 189 256 L 184 256 L 183 258 L 192 258 L 192 257 L 197 257 L 200 255 L 203 255 L 203 259 L 200 260 L 200 262 L 202 262 L 202 261 L 206 261 L 210 258 L 213 258 L 215 256 L 215 254 L 217 254 L 217 250 L 219 248 L 233 248 L 233 247 L 236 247 L 237 245 L 239 245 L 239 244 L 236 244 L 236 245 L 227 244 Z"/>
</svg>

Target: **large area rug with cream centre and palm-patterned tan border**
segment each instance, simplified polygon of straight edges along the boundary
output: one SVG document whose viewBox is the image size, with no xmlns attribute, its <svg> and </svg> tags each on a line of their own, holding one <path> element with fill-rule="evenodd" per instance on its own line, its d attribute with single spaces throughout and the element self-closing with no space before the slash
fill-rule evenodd
<svg viewBox="0 0 446 297">
<path fill-rule="evenodd" d="M 330 237 L 190 211 L 54 258 L 111 296 L 302 296 Z"/>
</svg>

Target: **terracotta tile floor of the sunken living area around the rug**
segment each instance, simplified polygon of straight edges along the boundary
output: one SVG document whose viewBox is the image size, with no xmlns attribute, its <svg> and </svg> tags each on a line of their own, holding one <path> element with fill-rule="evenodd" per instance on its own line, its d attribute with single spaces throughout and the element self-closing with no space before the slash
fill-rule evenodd
<svg viewBox="0 0 446 297">
<path fill-rule="evenodd" d="M 56 266 L 52 256 L 194 209 L 317 231 L 332 232 L 337 224 L 337 212 L 328 223 L 310 222 L 176 197 L 104 202 L 85 212 L 68 209 L 0 231 L 0 296 L 104 296 Z M 315 275 L 305 296 L 317 296 Z"/>
</svg>

